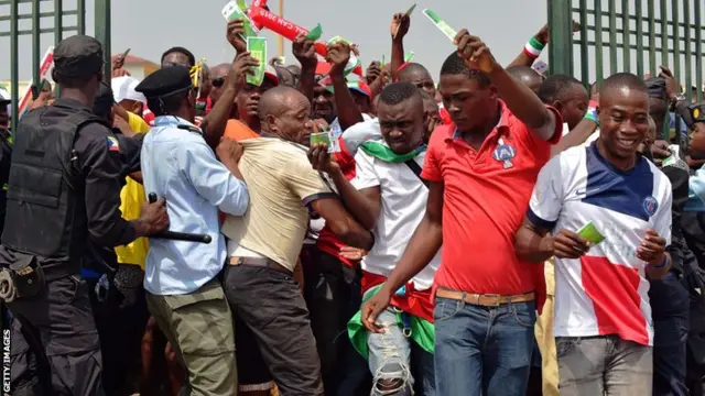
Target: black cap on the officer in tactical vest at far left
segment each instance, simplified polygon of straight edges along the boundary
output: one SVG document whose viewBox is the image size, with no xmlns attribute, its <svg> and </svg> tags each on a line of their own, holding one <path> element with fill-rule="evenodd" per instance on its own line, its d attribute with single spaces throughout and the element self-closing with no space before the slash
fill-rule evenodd
<svg viewBox="0 0 705 396">
<path fill-rule="evenodd" d="M 100 73 L 102 65 L 102 46 L 87 35 L 64 38 L 54 50 L 54 70 L 59 77 L 90 77 Z"/>
</svg>

